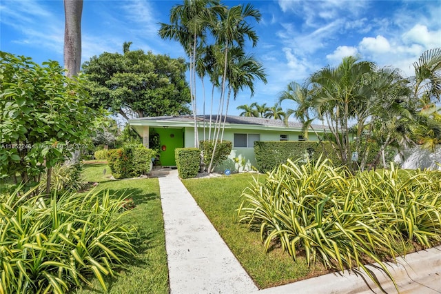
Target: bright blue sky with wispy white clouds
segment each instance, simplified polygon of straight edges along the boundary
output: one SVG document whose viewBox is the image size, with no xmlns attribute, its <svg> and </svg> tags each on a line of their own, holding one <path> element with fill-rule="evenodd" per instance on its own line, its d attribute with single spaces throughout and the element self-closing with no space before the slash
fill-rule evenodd
<svg viewBox="0 0 441 294">
<path fill-rule="evenodd" d="M 181 1 L 84 0 L 82 62 L 102 52 L 132 50 L 184 57 L 178 43 L 158 37 L 158 22 L 169 22 L 172 6 Z M 256 83 L 255 95 L 242 92 L 229 114 L 241 104 L 273 106 L 290 81 L 302 83 L 312 72 L 359 55 L 378 66 L 400 68 L 413 75 L 412 63 L 431 48 L 441 47 L 441 1 L 223 1 L 227 6 L 252 3 L 262 13 L 253 23 L 260 40 L 247 48 L 263 63 L 268 84 Z M 2 0 L 0 50 L 63 63 L 62 0 Z M 201 88 L 198 96 L 201 97 Z M 210 95 L 207 90 L 207 95 Z M 293 108 L 284 104 L 283 108 Z M 198 104 L 198 113 L 202 105 Z"/>
</svg>

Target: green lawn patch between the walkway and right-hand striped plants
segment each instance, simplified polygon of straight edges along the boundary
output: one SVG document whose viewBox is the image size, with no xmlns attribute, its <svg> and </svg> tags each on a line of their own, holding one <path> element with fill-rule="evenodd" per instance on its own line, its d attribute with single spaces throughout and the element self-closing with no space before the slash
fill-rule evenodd
<svg viewBox="0 0 441 294">
<path fill-rule="evenodd" d="M 299 258 L 293 262 L 280 248 L 272 248 L 265 253 L 260 233 L 251 232 L 244 224 L 238 224 L 236 209 L 241 202 L 240 195 L 250 181 L 252 174 L 245 173 L 184 179 L 182 182 L 259 288 L 287 284 L 324 273 L 322 268 L 311 272 L 305 259 Z"/>
</svg>

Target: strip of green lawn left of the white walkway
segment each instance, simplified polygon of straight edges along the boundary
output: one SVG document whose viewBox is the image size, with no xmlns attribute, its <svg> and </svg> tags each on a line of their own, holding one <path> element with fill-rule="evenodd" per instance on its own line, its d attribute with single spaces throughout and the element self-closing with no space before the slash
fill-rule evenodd
<svg viewBox="0 0 441 294">
<path fill-rule="evenodd" d="M 88 182 L 99 183 L 98 190 L 110 190 L 114 195 L 132 198 L 136 207 L 126 216 L 134 225 L 140 241 L 138 255 L 127 271 L 107 279 L 110 293 L 169 293 L 167 253 L 158 179 L 110 179 L 107 164 L 85 164 L 83 175 Z M 74 293 L 101 293 L 97 280 Z"/>
</svg>

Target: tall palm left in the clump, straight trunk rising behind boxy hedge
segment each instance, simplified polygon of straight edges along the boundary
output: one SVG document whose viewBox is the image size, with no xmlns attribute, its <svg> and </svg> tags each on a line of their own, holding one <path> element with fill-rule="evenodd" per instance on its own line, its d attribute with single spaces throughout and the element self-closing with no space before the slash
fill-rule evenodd
<svg viewBox="0 0 441 294">
<path fill-rule="evenodd" d="M 183 4 L 173 6 L 170 10 L 170 23 L 161 23 L 159 35 L 163 39 L 174 39 L 181 43 L 189 57 L 190 93 L 194 117 L 194 146 L 199 146 L 196 120 L 196 52 L 198 46 L 205 42 L 209 23 L 225 8 L 218 0 L 184 0 Z M 201 73 L 203 70 L 198 70 Z"/>
</svg>

